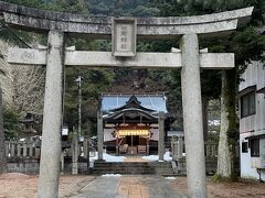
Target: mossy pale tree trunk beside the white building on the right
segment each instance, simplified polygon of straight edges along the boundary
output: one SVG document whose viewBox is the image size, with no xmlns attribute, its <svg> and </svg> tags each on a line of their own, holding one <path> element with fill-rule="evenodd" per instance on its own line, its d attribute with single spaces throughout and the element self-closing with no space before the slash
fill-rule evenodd
<svg viewBox="0 0 265 198">
<path fill-rule="evenodd" d="M 218 172 L 221 177 L 236 178 L 235 164 L 235 143 L 236 136 L 236 116 L 235 116 L 235 69 L 222 70 L 221 90 L 221 129 L 219 140 Z"/>
</svg>

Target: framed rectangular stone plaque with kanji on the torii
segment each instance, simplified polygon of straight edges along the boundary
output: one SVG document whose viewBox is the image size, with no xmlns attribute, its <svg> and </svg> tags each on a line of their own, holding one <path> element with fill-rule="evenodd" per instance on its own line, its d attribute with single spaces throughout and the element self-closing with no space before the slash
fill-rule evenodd
<svg viewBox="0 0 265 198">
<path fill-rule="evenodd" d="M 136 20 L 131 18 L 113 19 L 113 55 L 136 55 Z"/>
</svg>

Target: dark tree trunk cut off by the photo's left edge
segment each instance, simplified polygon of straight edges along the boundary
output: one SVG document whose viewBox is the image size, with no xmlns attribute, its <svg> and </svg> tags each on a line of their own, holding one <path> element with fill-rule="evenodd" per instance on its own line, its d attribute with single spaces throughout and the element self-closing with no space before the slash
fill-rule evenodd
<svg viewBox="0 0 265 198">
<path fill-rule="evenodd" d="M 0 87 L 0 174 L 8 172 L 3 131 L 2 89 Z"/>
</svg>

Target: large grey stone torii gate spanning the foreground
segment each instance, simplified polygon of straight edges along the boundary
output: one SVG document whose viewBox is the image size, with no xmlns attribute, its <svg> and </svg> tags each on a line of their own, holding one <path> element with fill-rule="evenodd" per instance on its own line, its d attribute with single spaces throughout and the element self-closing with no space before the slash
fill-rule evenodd
<svg viewBox="0 0 265 198">
<path fill-rule="evenodd" d="M 135 53 L 132 48 L 128 57 L 127 55 L 120 57 L 124 56 L 123 47 L 119 48 L 121 54 L 120 52 L 116 54 L 65 51 L 64 47 L 65 34 L 89 38 L 110 38 L 112 18 L 89 18 L 42 11 L 0 1 L 0 12 L 10 26 L 49 35 L 46 50 L 10 48 L 8 56 L 9 63 L 46 65 L 39 197 L 57 197 L 65 65 L 181 68 L 189 196 L 206 197 L 200 68 L 232 68 L 234 55 L 200 52 L 198 35 L 235 30 L 237 24 L 247 22 L 252 11 L 253 8 L 245 8 L 199 16 L 136 19 L 134 25 L 137 37 L 176 38 L 177 35 L 181 35 L 180 51 Z M 126 47 L 125 50 L 127 51 Z"/>
</svg>

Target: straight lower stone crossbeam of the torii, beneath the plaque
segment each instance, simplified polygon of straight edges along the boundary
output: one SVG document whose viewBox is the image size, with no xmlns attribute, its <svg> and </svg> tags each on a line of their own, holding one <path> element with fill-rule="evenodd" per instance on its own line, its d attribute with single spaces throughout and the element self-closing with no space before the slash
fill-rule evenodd
<svg viewBox="0 0 265 198">
<path fill-rule="evenodd" d="M 45 65 L 46 50 L 9 48 L 8 62 L 22 65 Z M 66 66 L 180 68 L 181 53 L 137 53 L 135 57 L 117 58 L 112 52 L 65 51 Z M 234 67 L 233 53 L 200 53 L 200 67 L 229 69 Z"/>
</svg>

